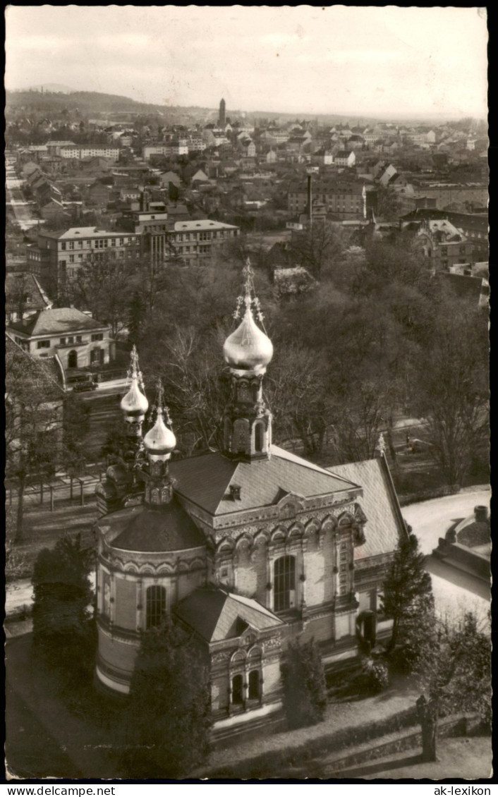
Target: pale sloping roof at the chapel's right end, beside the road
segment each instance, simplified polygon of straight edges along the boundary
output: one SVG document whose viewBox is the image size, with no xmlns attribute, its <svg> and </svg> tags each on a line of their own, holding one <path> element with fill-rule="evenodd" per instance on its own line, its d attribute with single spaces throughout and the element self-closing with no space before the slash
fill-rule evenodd
<svg viewBox="0 0 498 797">
<path fill-rule="evenodd" d="M 394 551 L 400 536 L 406 532 L 385 459 L 375 457 L 348 465 L 334 465 L 331 470 L 363 487 L 359 504 L 367 516 L 366 542 L 355 548 L 355 559 Z"/>
</svg>

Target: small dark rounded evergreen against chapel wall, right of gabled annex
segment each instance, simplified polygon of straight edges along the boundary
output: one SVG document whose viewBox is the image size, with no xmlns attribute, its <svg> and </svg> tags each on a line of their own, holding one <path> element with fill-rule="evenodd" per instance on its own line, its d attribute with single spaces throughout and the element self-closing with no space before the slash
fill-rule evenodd
<svg viewBox="0 0 498 797">
<path fill-rule="evenodd" d="M 289 728 L 313 725 L 324 719 L 327 687 L 320 650 L 314 640 L 288 646 L 281 667 L 284 706 Z"/>
</svg>

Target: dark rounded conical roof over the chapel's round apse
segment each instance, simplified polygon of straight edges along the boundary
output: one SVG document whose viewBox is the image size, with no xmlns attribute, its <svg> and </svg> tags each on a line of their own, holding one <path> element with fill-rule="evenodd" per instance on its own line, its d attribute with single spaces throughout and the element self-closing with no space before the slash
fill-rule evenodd
<svg viewBox="0 0 498 797">
<path fill-rule="evenodd" d="M 135 552 L 172 552 L 202 548 L 206 538 L 173 499 L 160 508 L 145 504 L 118 509 L 100 520 L 112 548 Z"/>
</svg>

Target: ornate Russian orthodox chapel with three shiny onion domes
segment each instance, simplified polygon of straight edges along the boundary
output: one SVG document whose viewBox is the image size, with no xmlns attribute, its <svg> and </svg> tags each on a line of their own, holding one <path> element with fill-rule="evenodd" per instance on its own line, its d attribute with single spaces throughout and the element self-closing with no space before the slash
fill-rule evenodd
<svg viewBox="0 0 498 797">
<path fill-rule="evenodd" d="M 97 488 L 96 675 L 127 693 L 141 633 L 171 613 L 209 666 L 215 731 L 280 710 L 290 640 L 314 638 L 327 664 L 354 657 L 359 634 L 374 642 L 378 595 L 406 533 L 382 450 L 328 470 L 273 445 L 263 394 L 273 345 L 249 262 L 244 275 L 240 324 L 223 346 L 222 450 L 171 461 L 160 384 L 143 434 L 134 349 L 121 402 L 128 451 Z"/>
</svg>

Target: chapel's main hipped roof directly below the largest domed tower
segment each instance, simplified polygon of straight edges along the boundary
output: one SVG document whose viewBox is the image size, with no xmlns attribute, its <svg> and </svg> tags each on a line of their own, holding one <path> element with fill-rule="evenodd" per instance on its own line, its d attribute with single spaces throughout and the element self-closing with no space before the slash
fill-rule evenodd
<svg viewBox="0 0 498 797">
<path fill-rule="evenodd" d="M 272 456 L 238 462 L 219 452 L 171 462 L 175 491 L 211 515 L 220 516 L 276 504 L 285 493 L 312 497 L 359 489 L 347 477 L 313 465 L 301 457 L 272 446 Z M 241 488 L 233 501 L 230 485 Z"/>
</svg>

